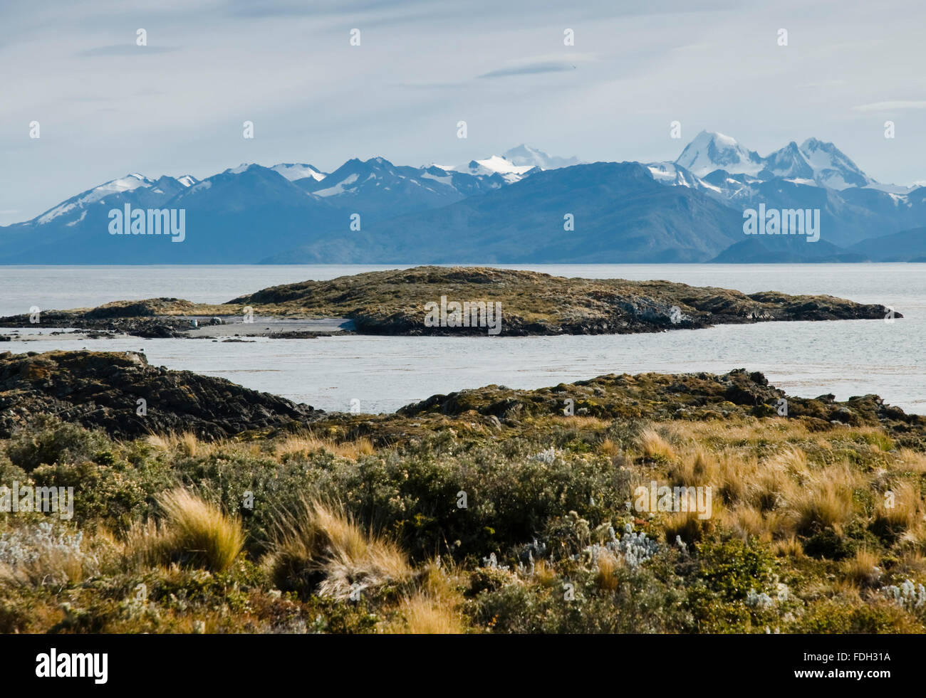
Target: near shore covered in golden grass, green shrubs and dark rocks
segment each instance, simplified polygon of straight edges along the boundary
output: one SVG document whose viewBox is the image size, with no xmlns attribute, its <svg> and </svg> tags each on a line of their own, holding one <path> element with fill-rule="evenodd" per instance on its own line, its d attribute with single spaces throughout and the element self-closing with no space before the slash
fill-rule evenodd
<svg viewBox="0 0 926 698">
<path fill-rule="evenodd" d="M 920 632 L 924 484 L 926 418 L 761 373 L 363 415 L 6 352 L 0 631 Z"/>
</svg>

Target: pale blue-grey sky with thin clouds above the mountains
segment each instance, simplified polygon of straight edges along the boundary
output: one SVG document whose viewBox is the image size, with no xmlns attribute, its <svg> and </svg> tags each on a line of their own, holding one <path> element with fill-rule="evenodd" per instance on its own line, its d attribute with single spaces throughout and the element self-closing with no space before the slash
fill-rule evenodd
<svg viewBox="0 0 926 698">
<path fill-rule="evenodd" d="M 653 162 L 702 129 L 762 155 L 817 137 L 911 184 L 923 26 L 912 0 L 0 0 L 0 226 L 132 172 L 462 165 L 522 142 Z"/>
</svg>

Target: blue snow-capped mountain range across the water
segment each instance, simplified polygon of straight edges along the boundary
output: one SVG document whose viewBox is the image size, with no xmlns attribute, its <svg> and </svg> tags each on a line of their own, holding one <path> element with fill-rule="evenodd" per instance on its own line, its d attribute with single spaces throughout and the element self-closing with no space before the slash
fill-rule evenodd
<svg viewBox="0 0 926 698">
<path fill-rule="evenodd" d="M 747 236 L 744 212 L 820 211 L 820 239 Z M 110 235 L 110 212 L 182 210 L 185 235 Z M 128 227 L 128 225 L 127 225 Z M 180 241 L 179 239 L 174 241 Z M 582 163 L 520 145 L 465 165 L 351 159 L 130 174 L 0 227 L 0 263 L 776 263 L 926 259 L 926 187 L 832 143 L 761 156 L 702 131 L 674 162 Z"/>
</svg>

